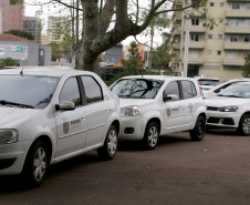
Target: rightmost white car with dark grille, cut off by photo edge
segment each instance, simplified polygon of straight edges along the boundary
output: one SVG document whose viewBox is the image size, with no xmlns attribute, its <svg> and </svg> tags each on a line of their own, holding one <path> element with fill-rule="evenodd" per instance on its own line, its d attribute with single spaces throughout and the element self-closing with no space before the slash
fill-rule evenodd
<svg viewBox="0 0 250 205">
<path fill-rule="evenodd" d="M 250 82 L 233 83 L 205 102 L 208 127 L 233 127 L 250 135 Z"/>
</svg>

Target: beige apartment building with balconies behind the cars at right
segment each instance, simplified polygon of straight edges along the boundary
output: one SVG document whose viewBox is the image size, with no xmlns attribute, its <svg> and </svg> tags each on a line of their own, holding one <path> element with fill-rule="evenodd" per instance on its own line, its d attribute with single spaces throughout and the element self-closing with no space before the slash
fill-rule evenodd
<svg viewBox="0 0 250 205">
<path fill-rule="evenodd" d="M 179 7 L 179 2 L 173 4 Z M 170 43 L 175 59 L 174 71 L 184 71 L 185 44 L 188 45 L 188 76 L 217 76 L 220 81 L 241 78 L 244 57 L 250 52 L 250 0 L 208 0 L 207 17 L 200 13 L 188 19 L 189 42 L 185 42 L 186 13 L 175 11 Z M 210 30 L 202 25 L 211 18 L 217 25 Z"/>
</svg>

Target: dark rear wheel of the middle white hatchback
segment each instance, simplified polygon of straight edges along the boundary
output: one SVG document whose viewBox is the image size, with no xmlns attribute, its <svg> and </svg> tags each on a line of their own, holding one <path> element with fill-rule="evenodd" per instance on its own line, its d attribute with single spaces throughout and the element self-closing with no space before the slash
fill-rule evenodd
<svg viewBox="0 0 250 205">
<path fill-rule="evenodd" d="M 201 141 L 206 132 L 206 122 L 202 116 L 198 116 L 196 121 L 196 126 L 194 130 L 189 131 L 192 141 Z"/>
</svg>

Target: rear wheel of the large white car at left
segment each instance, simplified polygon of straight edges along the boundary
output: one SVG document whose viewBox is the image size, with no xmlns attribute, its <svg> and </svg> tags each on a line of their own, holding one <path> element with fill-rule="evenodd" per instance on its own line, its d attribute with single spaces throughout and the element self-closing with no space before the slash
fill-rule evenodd
<svg viewBox="0 0 250 205">
<path fill-rule="evenodd" d="M 114 158 L 117 152 L 117 145 L 118 145 L 117 130 L 114 125 L 111 125 L 107 131 L 103 146 L 97 148 L 100 158 L 102 160 Z"/>
</svg>

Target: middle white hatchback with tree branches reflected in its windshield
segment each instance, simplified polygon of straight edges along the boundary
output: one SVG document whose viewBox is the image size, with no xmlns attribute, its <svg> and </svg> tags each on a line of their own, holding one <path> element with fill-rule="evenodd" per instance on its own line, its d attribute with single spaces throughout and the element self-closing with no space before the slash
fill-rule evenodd
<svg viewBox="0 0 250 205">
<path fill-rule="evenodd" d="M 206 106 L 196 80 L 181 76 L 134 75 L 111 86 L 119 96 L 119 139 L 143 140 L 155 148 L 162 134 L 190 131 L 191 140 L 205 135 Z"/>
</svg>

